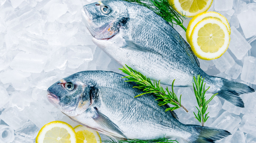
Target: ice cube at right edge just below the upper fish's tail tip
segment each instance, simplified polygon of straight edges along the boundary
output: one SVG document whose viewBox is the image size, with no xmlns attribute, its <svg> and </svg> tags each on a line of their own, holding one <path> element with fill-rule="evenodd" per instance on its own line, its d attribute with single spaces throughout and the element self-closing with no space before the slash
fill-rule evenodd
<svg viewBox="0 0 256 143">
<path fill-rule="evenodd" d="M 246 96 L 245 102 L 245 108 L 242 108 L 242 113 L 244 115 L 248 116 L 254 116 L 256 115 L 256 104 L 254 103 L 256 101 L 256 93 L 250 93 Z"/>
</svg>

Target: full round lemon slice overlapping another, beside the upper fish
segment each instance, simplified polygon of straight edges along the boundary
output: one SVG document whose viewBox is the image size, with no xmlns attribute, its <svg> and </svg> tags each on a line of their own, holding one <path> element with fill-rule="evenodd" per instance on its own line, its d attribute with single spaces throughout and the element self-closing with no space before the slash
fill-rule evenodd
<svg viewBox="0 0 256 143">
<path fill-rule="evenodd" d="M 223 22 L 215 18 L 207 18 L 195 25 L 189 39 L 191 49 L 196 56 L 211 60 L 225 53 L 230 35 Z"/>
</svg>

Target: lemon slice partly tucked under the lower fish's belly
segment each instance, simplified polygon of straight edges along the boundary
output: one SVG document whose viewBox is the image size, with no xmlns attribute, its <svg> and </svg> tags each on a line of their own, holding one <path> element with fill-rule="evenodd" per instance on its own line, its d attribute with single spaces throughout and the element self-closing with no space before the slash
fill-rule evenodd
<svg viewBox="0 0 256 143">
<path fill-rule="evenodd" d="M 101 143 L 99 133 L 78 125 L 75 128 L 77 143 Z"/>
</svg>

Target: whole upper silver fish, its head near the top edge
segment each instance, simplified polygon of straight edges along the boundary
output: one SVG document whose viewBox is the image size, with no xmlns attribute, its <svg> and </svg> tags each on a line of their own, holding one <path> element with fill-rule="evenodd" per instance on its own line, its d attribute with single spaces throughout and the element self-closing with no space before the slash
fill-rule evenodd
<svg viewBox="0 0 256 143">
<path fill-rule="evenodd" d="M 107 12 L 104 11 L 104 8 Z M 82 18 L 93 42 L 120 65 L 171 85 L 192 87 L 200 74 L 208 91 L 244 107 L 240 94 L 254 92 L 245 84 L 206 74 L 180 34 L 153 11 L 121 0 L 104 0 L 83 7 Z"/>
</svg>

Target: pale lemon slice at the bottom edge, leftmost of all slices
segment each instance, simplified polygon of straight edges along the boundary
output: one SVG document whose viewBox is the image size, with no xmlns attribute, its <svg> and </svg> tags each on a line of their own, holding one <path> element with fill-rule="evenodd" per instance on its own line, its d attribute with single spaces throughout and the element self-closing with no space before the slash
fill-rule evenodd
<svg viewBox="0 0 256 143">
<path fill-rule="evenodd" d="M 74 128 L 66 122 L 53 121 L 44 125 L 35 139 L 36 143 L 76 143 Z"/>
</svg>

